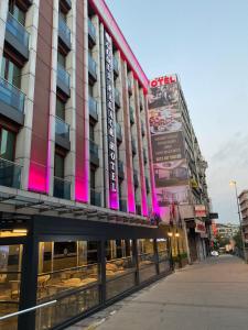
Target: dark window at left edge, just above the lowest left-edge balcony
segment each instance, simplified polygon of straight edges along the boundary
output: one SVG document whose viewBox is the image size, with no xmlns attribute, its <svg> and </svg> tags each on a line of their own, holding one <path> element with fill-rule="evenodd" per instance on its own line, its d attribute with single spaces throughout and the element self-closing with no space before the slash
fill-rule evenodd
<svg viewBox="0 0 248 330">
<path fill-rule="evenodd" d="M 0 129 L 0 157 L 14 161 L 15 134 L 6 129 Z"/>
</svg>

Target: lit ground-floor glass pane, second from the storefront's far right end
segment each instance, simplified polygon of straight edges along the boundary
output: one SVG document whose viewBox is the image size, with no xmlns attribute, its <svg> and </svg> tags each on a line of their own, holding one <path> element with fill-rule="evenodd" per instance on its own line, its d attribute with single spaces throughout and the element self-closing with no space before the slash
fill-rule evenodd
<svg viewBox="0 0 248 330">
<path fill-rule="evenodd" d="M 153 240 L 138 240 L 138 262 L 140 282 L 148 280 L 157 275 L 157 260 Z"/>
</svg>

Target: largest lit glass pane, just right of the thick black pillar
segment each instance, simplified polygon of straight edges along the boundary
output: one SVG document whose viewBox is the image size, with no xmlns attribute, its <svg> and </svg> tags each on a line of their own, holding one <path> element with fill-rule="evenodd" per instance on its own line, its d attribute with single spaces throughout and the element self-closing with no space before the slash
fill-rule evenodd
<svg viewBox="0 0 248 330">
<path fill-rule="evenodd" d="M 39 244 L 37 304 L 57 302 L 36 312 L 36 330 L 51 329 L 99 305 L 97 241 Z"/>
</svg>

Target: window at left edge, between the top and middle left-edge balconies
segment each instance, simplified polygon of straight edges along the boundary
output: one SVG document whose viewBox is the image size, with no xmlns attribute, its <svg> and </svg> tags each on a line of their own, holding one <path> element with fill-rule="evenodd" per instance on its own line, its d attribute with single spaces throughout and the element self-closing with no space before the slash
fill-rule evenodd
<svg viewBox="0 0 248 330">
<path fill-rule="evenodd" d="M 21 68 L 6 56 L 2 57 L 1 77 L 21 88 Z"/>
</svg>

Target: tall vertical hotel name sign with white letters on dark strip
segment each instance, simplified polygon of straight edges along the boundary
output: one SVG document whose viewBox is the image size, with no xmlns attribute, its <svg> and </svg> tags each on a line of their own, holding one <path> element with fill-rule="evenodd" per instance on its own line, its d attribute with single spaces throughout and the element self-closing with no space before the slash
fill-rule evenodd
<svg viewBox="0 0 248 330">
<path fill-rule="evenodd" d="M 111 209 L 118 209 L 112 45 L 111 45 L 111 38 L 107 32 L 105 32 L 105 75 L 106 75 L 108 170 L 109 170 L 109 207 Z"/>
</svg>

